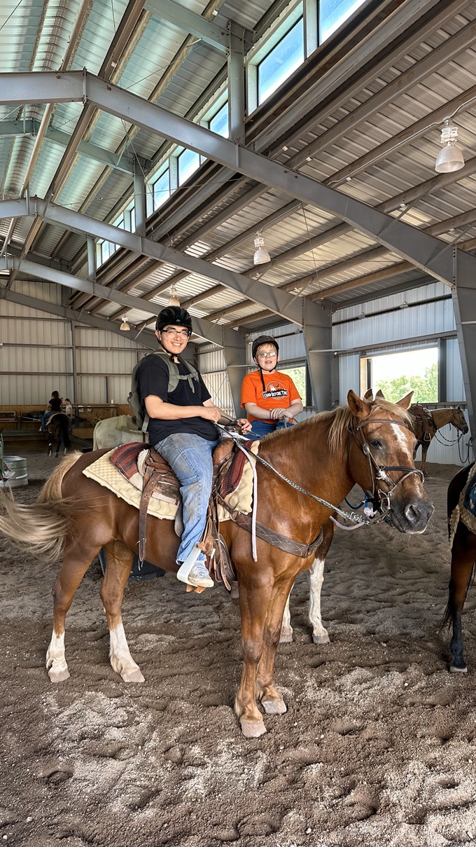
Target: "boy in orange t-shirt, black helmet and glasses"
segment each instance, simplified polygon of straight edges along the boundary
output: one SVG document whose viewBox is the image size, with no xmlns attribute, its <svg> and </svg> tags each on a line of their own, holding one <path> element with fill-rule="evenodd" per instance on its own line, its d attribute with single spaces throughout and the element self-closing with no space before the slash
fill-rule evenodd
<svg viewBox="0 0 476 847">
<path fill-rule="evenodd" d="M 302 400 L 291 377 L 276 370 L 280 347 L 272 335 L 253 341 L 252 357 L 258 370 L 243 379 L 241 406 L 252 421 L 251 435 L 261 438 L 292 424 L 294 415 L 302 412 Z"/>
</svg>

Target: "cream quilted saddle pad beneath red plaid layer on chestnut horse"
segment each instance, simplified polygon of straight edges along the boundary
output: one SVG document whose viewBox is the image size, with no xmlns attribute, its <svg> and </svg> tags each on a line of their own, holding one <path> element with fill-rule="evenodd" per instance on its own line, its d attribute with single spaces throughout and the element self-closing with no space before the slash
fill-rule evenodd
<svg viewBox="0 0 476 847">
<path fill-rule="evenodd" d="M 258 446 L 259 441 L 252 442 L 251 450 L 254 455 L 257 454 Z M 130 468 L 128 470 L 130 479 L 125 479 L 123 473 L 121 473 L 118 468 L 115 468 L 111 461 L 113 454 L 118 451 L 117 447 L 114 447 L 113 450 L 104 453 L 104 455 L 99 457 L 96 462 L 93 462 L 88 468 L 85 468 L 83 473 L 89 479 L 94 479 L 95 482 L 99 483 L 104 488 L 108 488 L 108 490 L 113 491 L 113 494 L 121 497 L 121 499 L 125 500 L 126 503 L 129 503 L 130 506 L 134 506 L 138 509 L 141 505 L 142 477 L 138 472 L 137 467 L 133 467 L 132 455 L 135 453 L 136 457 L 139 459 L 139 463 L 143 463 L 147 447 L 144 448 L 142 444 L 130 444 L 124 445 L 122 450 L 124 450 L 124 448 L 132 448 L 129 453 L 122 454 L 125 459 L 124 464 L 130 464 Z M 142 457 L 141 453 L 143 454 Z M 243 455 L 241 451 L 238 451 L 238 453 L 239 455 Z M 245 462 L 242 467 L 240 484 L 234 491 L 224 497 L 224 499 L 230 508 L 249 514 L 249 512 L 252 511 L 253 471 L 250 462 L 246 461 L 245 457 L 243 458 L 245 459 Z M 139 484 L 139 480 L 140 488 L 136 488 L 136 484 Z M 163 495 L 154 491 L 149 501 L 147 514 L 153 515 L 154 518 L 174 520 L 177 508 L 178 503 L 175 500 L 172 501 L 171 498 L 163 497 Z M 220 523 L 228 520 L 230 520 L 230 513 L 227 512 L 224 507 L 219 506 Z"/>
</svg>

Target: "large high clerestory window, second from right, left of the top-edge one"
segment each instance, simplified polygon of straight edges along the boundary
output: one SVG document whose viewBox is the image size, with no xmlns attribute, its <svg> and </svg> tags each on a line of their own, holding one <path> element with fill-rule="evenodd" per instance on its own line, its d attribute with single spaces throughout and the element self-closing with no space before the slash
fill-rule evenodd
<svg viewBox="0 0 476 847">
<path fill-rule="evenodd" d="M 303 20 L 283 36 L 257 65 L 257 102 L 266 100 L 304 61 Z"/>
</svg>

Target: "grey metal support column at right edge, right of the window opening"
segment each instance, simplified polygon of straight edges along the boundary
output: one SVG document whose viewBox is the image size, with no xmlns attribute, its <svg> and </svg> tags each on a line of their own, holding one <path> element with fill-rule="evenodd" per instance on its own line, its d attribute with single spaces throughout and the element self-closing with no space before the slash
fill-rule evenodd
<svg viewBox="0 0 476 847">
<path fill-rule="evenodd" d="M 460 252 L 453 251 L 453 307 L 462 366 L 462 379 L 468 403 L 471 435 L 476 435 L 476 279 L 462 273 Z"/>
</svg>

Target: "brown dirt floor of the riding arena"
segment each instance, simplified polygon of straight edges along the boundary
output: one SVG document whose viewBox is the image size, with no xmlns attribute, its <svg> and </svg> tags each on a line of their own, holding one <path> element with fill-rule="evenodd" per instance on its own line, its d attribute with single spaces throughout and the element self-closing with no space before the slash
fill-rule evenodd
<svg viewBox="0 0 476 847">
<path fill-rule="evenodd" d="M 28 456 L 32 502 L 54 460 Z M 443 847 L 476 843 L 476 589 L 463 617 L 467 677 L 448 673 L 446 484 L 407 538 L 340 532 L 313 645 L 307 579 L 291 595 L 292 644 L 276 680 L 288 705 L 261 739 L 233 711 L 240 621 L 222 588 L 186 595 L 171 576 L 130 584 L 124 623 L 145 684 L 108 664 L 94 562 L 69 612 L 71 676 L 45 653 L 58 566 L 2 542 L 0 844 L 22 847 Z"/>
</svg>

